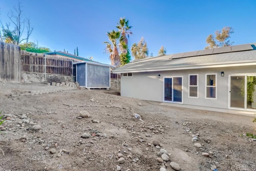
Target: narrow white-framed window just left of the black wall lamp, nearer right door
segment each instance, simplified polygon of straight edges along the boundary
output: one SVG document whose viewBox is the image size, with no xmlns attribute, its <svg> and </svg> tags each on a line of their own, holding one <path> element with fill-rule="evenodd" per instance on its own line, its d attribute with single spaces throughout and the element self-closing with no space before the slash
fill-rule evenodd
<svg viewBox="0 0 256 171">
<path fill-rule="evenodd" d="M 206 74 L 206 98 L 216 99 L 217 74 Z"/>
</svg>

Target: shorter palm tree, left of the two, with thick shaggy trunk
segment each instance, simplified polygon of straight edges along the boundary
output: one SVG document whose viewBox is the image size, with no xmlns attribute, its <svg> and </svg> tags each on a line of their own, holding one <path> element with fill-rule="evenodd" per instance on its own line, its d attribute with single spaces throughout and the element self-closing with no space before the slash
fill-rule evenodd
<svg viewBox="0 0 256 171">
<path fill-rule="evenodd" d="M 106 44 L 106 52 L 110 54 L 109 59 L 111 60 L 111 65 L 116 67 L 120 66 L 120 56 L 119 56 L 119 45 L 120 45 L 120 32 L 112 30 L 107 32 L 108 39 L 110 42 L 103 42 Z"/>
</svg>

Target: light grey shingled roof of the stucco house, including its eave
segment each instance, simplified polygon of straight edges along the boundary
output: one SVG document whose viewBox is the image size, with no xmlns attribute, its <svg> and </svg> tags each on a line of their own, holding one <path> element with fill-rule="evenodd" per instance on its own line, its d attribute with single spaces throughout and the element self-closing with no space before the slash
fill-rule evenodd
<svg viewBox="0 0 256 171">
<path fill-rule="evenodd" d="M 256 46 L 249 44 L 252 48 L 240 49 L 238 52 L 226 52 L 223 47 L 218 49 L 219 54 L 212 54 L 214 50 L 210 50 L 211 54 L 195 56 L 199 52 L 186 52 L 174 55 L 159 56 L 153 58 L 145 58 L 134 60 L 120 68 L 117 68 L 113 73 L 124 72 L 152 72 L 164 70 L 185 70 L 196 68 L 216 68 L 225 66 L 242 66 L 256 65 Z M 244 46 L 244 45 L 241 45 Z M 237 48 L 237 46 L 236 46 Z M 231 48 L 232 49 L 232 46 Z M 239 49 L 239 48 L 237 48 Z M 224 53 L 223 51 L 224 50 Z M 205 51 L 207 52 L 207 51 Z M 203 52 L 200 52 L 203 53 Z M 187 55 L 186 55 L 187 54 Z M 190 56 L 188 54 L 191 54 Z M 185 57 L 184 57 L 185 56 Z"/>
</svg>

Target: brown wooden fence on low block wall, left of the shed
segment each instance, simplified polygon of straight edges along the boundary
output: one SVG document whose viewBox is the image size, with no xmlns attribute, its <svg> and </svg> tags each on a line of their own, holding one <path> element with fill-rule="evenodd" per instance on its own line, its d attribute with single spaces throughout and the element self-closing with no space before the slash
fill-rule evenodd
<svg viewBox="0 0 256 171">
<path fill-rule="evenodd" d="M 26 73 L 72 75 L 73 60 L 67 58 L 22 51 L 21 60 L 22 71 Z"/>
</svg>

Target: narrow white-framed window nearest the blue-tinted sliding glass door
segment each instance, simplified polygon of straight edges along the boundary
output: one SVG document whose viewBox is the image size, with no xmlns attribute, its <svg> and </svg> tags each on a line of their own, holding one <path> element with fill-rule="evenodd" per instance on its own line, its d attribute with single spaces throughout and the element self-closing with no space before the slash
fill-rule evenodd
<svg viewBox="0 0 256 171">
<path fill-rule="evenodd" d="M 188 97 L 198 97 L 198 74 L 188 75 Z"/>
</svg>

